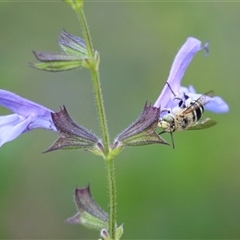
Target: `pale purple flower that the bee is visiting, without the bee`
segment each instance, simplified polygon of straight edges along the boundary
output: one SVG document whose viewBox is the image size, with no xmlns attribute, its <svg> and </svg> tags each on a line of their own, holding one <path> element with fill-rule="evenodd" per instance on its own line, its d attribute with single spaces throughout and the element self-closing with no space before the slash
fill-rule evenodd
<svg viewBox="0 0 240 240">
<path fill-rule="evenodd" d="M 208 43 L 206 43 L 204 46 L 201 46 L 201 42 L 198 39 L 189 37 L 178 51 L 167 79 L 169 86 L 176 96 L 182 98 L 185 94 L 193 100 L 196 100 L 202 95 L 197 94 L 193 86 L 186 88 L 182 87 L 180 83 L 194 55 L 200 50 L 208 50 L 207 47 Z M 154 107 L 161 107 L 161 109 L 172 109 L 179 103 L 179 100 L 174 98 L 175 96 L 171 92 L 169 86 L 165 84 L 160 96 L 154 104 Z M 212 111 L 214 113 L 226 113 L 229 111 L 227 103 L 218 96 L 211 98 L 207 97 L 206 102 L 207 104 L 205 109 L 208 111 Z"/>
</svg>

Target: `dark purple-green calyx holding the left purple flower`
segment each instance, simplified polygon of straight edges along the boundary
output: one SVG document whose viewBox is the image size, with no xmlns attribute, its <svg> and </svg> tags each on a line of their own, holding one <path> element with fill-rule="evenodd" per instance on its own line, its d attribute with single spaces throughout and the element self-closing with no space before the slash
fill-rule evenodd
<svg viewBox="0 0 240 240">
<path fill-rule="evenodd" d="M 60 137 L 45 152 L 80 148 L 96 155 L 103 154 L 101 140 L 86 128 L 77 125 L 69 116 L 65 106 L 59 112 L 51 113 L 51 115 Z"/>
</svg>

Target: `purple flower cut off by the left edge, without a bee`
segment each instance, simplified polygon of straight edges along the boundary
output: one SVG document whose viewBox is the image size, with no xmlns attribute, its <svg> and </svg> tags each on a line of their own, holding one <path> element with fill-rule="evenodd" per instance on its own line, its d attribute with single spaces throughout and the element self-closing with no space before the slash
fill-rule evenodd
<svg viewBox="0 0 240 240">
<path fill-rule="evenodd" d="M 1 89 L 0 105 L 14 112 L 0 117 L 0 147 L 35 128 L 57 132 L 48 108 Z"/>
</svg>

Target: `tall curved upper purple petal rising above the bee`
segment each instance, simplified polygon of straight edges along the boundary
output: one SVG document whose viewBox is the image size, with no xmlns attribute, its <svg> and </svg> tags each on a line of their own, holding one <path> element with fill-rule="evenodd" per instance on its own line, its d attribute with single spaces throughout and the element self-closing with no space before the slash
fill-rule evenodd
<svg viewBox="0 0 240 240">
<path fill-rule="evenodd" d="M 207 44 L 201 47 L 201 42 L 198 39 L 189 37 L 187 41 L 184 43 L 184 45 L 181 47 L 181 49 L 178 51 L 173 61 L 169 77 L 167 79 L 167 82 L 171 86 L 174 93 L 176 94 L 179 93 L 182 77 L 189 63 L 192 61 L 194 55 L 198 51 L 206 48 Z M 173 98 L 174 96 L 172 92 L 170 91 L 169 87 L 165 84 L 160 96 L 158 97 L 157 101 L 154 104 L 154 107 L 161 107 L 161 109 L 168 108 L 169 107 L 168 104 Z"/>
</svg>

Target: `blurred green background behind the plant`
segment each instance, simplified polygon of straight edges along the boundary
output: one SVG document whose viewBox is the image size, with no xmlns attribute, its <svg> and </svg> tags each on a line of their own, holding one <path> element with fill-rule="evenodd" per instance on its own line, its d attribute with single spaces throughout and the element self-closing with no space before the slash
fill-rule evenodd
<svg viewBox="0 0 240 240">
<path fill-rule="evenodd" d="M 183 85 L 214 89 L 230 106 L 228 114 L 205 113 L 216 127 L 174 134 L 175 150 L 132 147 L 116 158 L 123 238 L 240 238 L 240 3 L 86 1 L 85 13 L 101 56 L 111 139 L 146 100 L 156 100 L 188 36 L 209 40 L 210 54 L 196 55 Z M 1 2 L 0 88 L 54 111 L 64 104 L 76 122 L 100 134 L 86 69 L 54 74 L 28 67 L 36 62 L 32 50 L 59 52 L 63 28 L 81 35 L 60 1 Z M 107 209 L 103 160 L 79 150 L 42 154 L 56 138 L 35 130 L 0 149 L 1 239 L 97 239 L 98 232 L 64 221 L 76 213 L 76 186 L 90 183 Z"/>
</svg>

